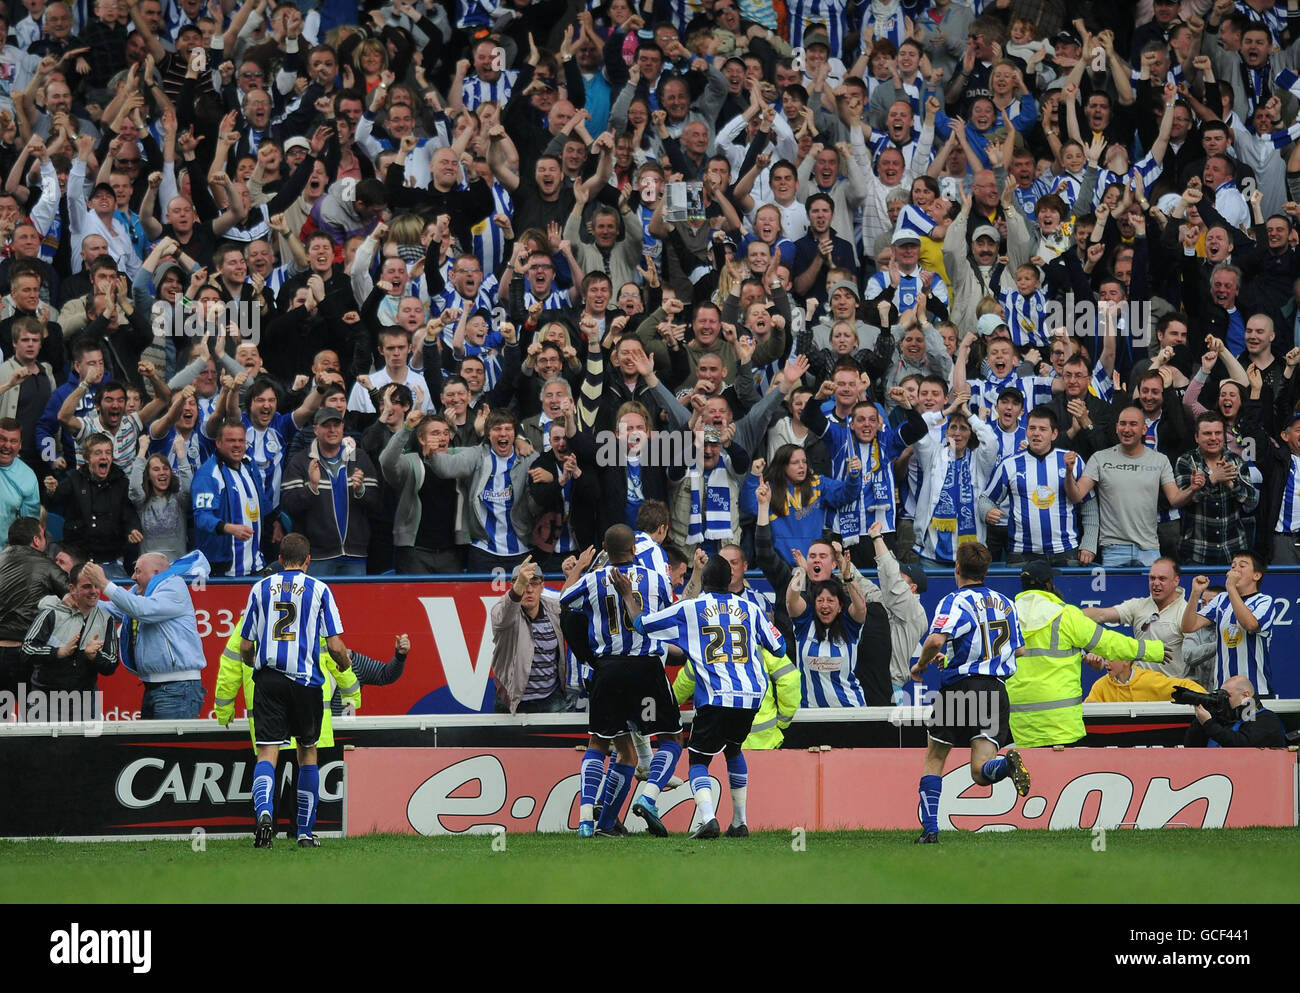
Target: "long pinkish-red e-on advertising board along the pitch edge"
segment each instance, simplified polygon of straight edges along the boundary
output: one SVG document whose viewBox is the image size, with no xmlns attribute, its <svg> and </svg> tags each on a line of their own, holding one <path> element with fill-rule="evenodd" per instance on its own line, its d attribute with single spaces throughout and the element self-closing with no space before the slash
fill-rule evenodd
<svg viewBox="0 0 1300 993">
<path fill-rule="evenodd" d="M 954 750 L 944 776 L 944 829 L 1295 824 L 1296 756 L 1254 749 L 1032 749 L 1034 782 L 970 777 Z M 915 828 L 923 750 L 749 753 L 749 825 L 807 831 Z M 578 754 L 551 749 L 356 749 L 346 753 L 346 832 L 458 834 L 563 832 L 577 827 Z M 959 763 L 959 764 L 957 764 Z M 718 816 L 731 818 L 723 763 L 714 763 Z M 679 773 L 684 769 L 679 769 Z M 722 784 L 719 784 L 719 777 Z M 663 794 L 664 824 L 693 824 L 689 785 Z M 638 818 L 629 831 L 644 831 Z"/>
</svg>

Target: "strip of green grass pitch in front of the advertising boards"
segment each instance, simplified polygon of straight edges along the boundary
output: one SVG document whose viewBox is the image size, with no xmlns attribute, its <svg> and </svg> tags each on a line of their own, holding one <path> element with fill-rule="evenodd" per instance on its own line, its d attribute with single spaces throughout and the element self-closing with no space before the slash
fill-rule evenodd
<svg viewBox="0 0 1300 993">
<path fill-rule="evenodd" d="M 1252 902 L 1300 892 L 1300 832 L 1087 831 L 807 834 L 690 841 L 519 834 L 78 844 L 0 842 L 0 899 L 21 902 L 1200 902 L 1228 867 Z M 291 896 L 290 896 L 291 894 Z"/>
</svg>

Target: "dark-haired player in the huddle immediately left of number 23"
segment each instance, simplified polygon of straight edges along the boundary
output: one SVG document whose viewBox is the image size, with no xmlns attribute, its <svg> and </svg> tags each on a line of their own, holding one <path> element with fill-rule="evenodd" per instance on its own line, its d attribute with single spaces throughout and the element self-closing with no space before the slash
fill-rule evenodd
<svg viewBox="0 0 1300 993">
<path fill-rule="evenodd" d="M 625 833 L 619 824 L 619 812 L 632 792 L 636 758 L 628 740 L 628 730 L 642 734 L 660 734 L 660 763 L 655 756 L 650 781 L 660 764 L 672 775 L 676 755 L 681 755 L 681 720 L 672 695 L 672 686 L 663 671 L 663 660 L 651 642 L 632 626 L 632 616 L 619 603 L 619 591 L 611 576 L 625 576 L 640 598 L 640 603 L 658 611 L 672 603 L 666 574 L 637 565 L 633 555 L 636 535 L 625 524 L 615 524 L 604 533 L 604 551 L 610 564 L 578 576 L 568 577 L 560 604 L 586 619 L 586 636 L 592 654 L 592 689 L 588 703 L 592 730 L 581 766 L 581 798 L 578 806 L 578 837 L 593 834 L 611 837 Z M 590 561 L 590 556 L 584 552 Z M 637 610 L 640 612 L 640 607 Z M 618 740 L 618 741 L 616 741 Z M 601 775 L 611 742 L 618 743 L 618 759 L 611 762 L 606 799 L 601 820 L 593 823 L 597 795 L 601 793 Z M 670 759 L 672 759 L 670 762 Z M 647 819 L 651 831 L 654 821 Z M 662 824 L 659 825 L 662 829 Z M 664 832 L 666 833 L 666 832 Z"/>
</svg>

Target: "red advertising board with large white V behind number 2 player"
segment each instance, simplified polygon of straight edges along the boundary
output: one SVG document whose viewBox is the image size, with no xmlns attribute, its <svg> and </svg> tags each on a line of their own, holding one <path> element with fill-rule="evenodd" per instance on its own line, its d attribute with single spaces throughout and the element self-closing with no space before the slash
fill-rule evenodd
<svg viewBox="0 0 1300 993">
<path fill-rule="evenodd" d="M 367 686 L 364 714 L 491 712 L 491 632 L 488 611 L 504 590 L 490 582 L 332 582 L 343 617 L 344 641 L 354 651 L 387 662 L 398 634 L 411 637 L 406 672 L 390 686 Z M 205 715 L 226 639 L 248 600 L 246 584 L 212 584 L 194 590 L 195 619 L 208 667 Z M 108 720 L 139 717 L 143 693 L 125 669 L 100 678 Z M 243 715 L 243 701 L 235 707 Z"/>
</svg>

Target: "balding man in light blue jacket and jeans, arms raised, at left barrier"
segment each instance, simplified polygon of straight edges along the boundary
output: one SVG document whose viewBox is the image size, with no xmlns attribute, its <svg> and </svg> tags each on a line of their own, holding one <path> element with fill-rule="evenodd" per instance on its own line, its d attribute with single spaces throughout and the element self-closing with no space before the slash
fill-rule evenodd
<svg viewBox="0 0 1300 993">
<path fill-rule="evenodd" d="M 208 563 L 190 552 L 174 563 L 159 552 L 135 560 L 135 590 L 109 582 L 90 561 L 82 576 L 108 597 L 105 610 L 122 621 L 122 664 L 144 682 L 143 720 L 183 720 L 203 711 L 203 641 L 187 576 L 207 577 Z"/>
</svg>

